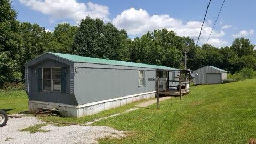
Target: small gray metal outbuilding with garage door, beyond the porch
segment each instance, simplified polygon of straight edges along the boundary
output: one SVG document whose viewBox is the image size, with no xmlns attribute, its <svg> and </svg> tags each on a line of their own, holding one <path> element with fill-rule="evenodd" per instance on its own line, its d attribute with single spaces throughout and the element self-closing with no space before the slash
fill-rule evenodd
<svg viewBox="0 0 256 144">
<path fill-rule="evenodd" d="M 205 66 L 199 68 L 193 73 L 198 75 L 193 78 L 195 85 L 197 84 L 221 84 L 227 79 L 227 71 L 214 66 Z"/>
</svg>

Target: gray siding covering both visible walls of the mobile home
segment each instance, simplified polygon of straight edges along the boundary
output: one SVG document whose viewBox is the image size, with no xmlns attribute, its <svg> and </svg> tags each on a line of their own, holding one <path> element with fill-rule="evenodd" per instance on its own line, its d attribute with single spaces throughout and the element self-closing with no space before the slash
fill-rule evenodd
<svg viewBox="0 0 256 144">
<path fill-rule="evenodd" d="M 53 67 L 67 68 L 66 93 L 38 91 L 38 74 L 35 71 L 38 68 Z M 146 83 L 140 87 L 138 70 L 144 70 L 146 77 Z M 177 71 L 175 75 L 178 73 Z M 149 78 L 155 78 L 154 68 L 73 62 L 51 54 L 44 54 L 27 62 L 25 74 L 26 92 L 31 101 L 77 106 L 155 91 L 155 81 L 148 81 Z"/>
</svg>

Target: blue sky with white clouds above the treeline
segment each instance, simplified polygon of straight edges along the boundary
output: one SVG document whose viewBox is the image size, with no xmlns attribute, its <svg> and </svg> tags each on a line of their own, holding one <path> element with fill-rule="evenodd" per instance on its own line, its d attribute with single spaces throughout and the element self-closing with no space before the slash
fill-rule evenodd
<svg viewBox="0 0 256 144">
<path fill-rule="evenodd" d="M 180 36 L 197 39 L 209 1 L 81 1 L 15 0 L 12 2 L 21 22 L 38 23 L 53 31 L 58 23 L 78 25 L 87 15 L 112 22 L 127 30 L 131 38 L 146 31 L 167 28 Z M 199 44 L 206 43 L 222 0 L 212 0 Z M 230 46 L 235 37 L 256 44 L 256 1 L 226 0 L 209 43 Z"/>
</svg>

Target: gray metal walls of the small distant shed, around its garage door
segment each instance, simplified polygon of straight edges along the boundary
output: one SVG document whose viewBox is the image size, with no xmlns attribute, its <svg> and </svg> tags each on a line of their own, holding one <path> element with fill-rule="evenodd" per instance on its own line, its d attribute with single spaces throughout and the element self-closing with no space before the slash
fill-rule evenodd
<svg viewBox="0 0 256 144">
<path fill-rule="evenodd" d="M 224 72 L 209 66 L 205 66 L 203 68 L 197 69 L 193 71 L 193 73 L 198 73 L 198 75 L 193 78 L 194 84 L 207 84 L 207 81 L 206 81 L 207 73 L 221 73 L 222 80 L 223 80 L 223 77 L 225 77 L 225 75 L 227 74 L 225 73 L 224 76 L 222 76 Z"/>
</svg>

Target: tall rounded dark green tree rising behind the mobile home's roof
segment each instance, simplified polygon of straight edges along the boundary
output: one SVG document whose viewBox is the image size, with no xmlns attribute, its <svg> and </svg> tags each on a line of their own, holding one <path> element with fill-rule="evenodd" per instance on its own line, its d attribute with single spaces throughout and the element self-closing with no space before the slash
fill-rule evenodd
<svg viewBox="0 0 256 144">
<path fill-rule="evenodd" d="M 105 24 L 98 18 L 86 17 L 80 22 L 71 53 L 87 57 L 125 60 L 124 54 L 127 51 L 122 49 L 127 47 L 122 43 L 126 43 L 126 39 L 126 32 L 119 31 L 112 23 Z"/>
</svg>

